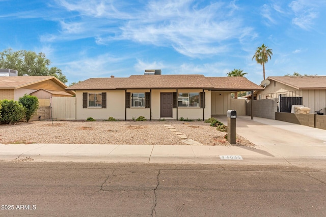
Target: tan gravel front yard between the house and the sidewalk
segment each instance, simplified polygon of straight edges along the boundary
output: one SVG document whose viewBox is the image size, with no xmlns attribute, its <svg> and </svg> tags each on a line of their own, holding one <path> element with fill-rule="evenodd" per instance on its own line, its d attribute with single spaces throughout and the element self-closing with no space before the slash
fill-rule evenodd
<svg viewBox="0 0 326 217">
<path fill-rule="evenodd" d="M 32 121 L 0 125 L 0 143 L 185 145 L 175 132 L 203 145 L 230 145 L 227 133 L 203 121 Z M 237 136 L 237 145 L 254 146 Z"/>
</svg>

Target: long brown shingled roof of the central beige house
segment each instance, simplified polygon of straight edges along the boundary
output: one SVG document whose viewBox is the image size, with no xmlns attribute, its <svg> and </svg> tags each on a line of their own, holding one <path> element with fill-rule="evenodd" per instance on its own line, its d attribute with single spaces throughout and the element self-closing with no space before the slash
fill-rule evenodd
<svg viewBox="0 0 326 217">
<path fill-rule="evenodd" d="M 90 78 L 66 88 L 89 89 L 182 89 L 262 90 L 244 77 L 205 77 L 204 75 L 131 75 L 128 78 Z"/>
</svg>

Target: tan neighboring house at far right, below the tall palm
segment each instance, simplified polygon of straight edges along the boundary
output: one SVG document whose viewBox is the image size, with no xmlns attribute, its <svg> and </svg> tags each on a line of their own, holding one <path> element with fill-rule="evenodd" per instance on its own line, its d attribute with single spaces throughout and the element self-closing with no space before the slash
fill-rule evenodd
<svg viewBox="0 0 326 217">
<path fill-rule="evenodd" d="M 326 107 L 326 76 L 273 76 L 264 91 L 255 91 L 257 100 L 282 97 L 302 97 L 302 105 L 310 113 Z"/>
</svg>

